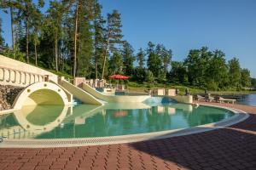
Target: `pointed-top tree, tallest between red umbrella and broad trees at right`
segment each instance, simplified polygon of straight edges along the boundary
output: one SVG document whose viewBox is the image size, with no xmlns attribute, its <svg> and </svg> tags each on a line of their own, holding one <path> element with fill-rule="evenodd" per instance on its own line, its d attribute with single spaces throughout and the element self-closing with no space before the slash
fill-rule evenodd
<svg viewBox="0 0 256 170">
<path fill-rule="evenodd" d="M 154 43 L 148 42 L 147 48 L 148 54 L 148 70 L 151 71 L 154 77 L 159 77 L 161 70 L 161 59 L 158 54 L 156 54 L 154 50 Z"/>
</svg>

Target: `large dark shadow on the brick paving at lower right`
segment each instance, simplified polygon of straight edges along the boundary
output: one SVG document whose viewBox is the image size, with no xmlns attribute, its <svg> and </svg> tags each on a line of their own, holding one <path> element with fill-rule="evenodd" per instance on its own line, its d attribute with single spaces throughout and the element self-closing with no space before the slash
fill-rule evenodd
<svg viewBox="0 0 256 170">
<path fill-rule="evenodd" d="M 166 169 L 255 169 L 256 115 L 231 127 L 129 146 L 164 161 Z"/>
</svg>

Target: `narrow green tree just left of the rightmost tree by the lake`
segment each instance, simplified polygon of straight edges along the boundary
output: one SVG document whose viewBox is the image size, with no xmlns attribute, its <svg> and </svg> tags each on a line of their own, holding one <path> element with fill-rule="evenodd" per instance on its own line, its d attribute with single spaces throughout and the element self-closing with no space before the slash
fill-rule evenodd
<svg viewBox="0 0 256 170">
<path fill-rule="evenodd" d="M 239 87 L 241 80 L 241 68 L 239 64 L 239 59 L 233 58 L 229 60 L 229 75 L 230 75 L 230 85 L 233 87 Z"/>
</svg>

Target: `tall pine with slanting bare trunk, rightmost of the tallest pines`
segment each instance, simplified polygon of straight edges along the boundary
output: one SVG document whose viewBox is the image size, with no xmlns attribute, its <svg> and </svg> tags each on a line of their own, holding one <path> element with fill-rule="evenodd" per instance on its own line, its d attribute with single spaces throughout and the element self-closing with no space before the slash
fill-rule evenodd
<svg viewBox="0 0 256 170">
<path fill-rule="evenodd" d="M 105 34 L 105 53 L 103 60 L 103 68 L 102 68 L 102 79 L 104 77 L 105 65 L 108 56 L 108 48 L 111 53 L 116 53 L 118 51 L 117 45 L 122 43 L 122 30 L 121 30 L 121 18 L 118 10 L 113 10 L 112 14 L 108 14 L 108 26 Z"/>
</svg>

